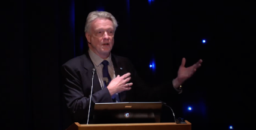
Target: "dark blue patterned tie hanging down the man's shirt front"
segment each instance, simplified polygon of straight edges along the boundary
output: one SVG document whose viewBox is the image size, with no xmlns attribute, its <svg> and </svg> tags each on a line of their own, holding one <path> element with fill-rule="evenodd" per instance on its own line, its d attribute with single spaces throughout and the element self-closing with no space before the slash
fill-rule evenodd
<svg viewBox="0 0 256 130">
<path fill-rule="evenodd" d="M 108 84 L 111 82 L 111 78 L 110 78 L 110 75 L 108 73 L 108 61 L 104 60 L 102 62 L 102 64 L 103 64 L 103 69 L 102 69 L 103 83 L 104 83 L 104 87 L 107 87 Z M 113 102 L 120 102 L 118 94 L 114 94 L 112 96 L 112 100 L 113 100 Z"/>
</svg>

